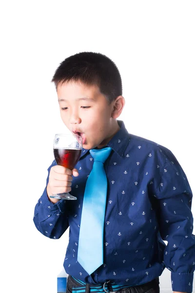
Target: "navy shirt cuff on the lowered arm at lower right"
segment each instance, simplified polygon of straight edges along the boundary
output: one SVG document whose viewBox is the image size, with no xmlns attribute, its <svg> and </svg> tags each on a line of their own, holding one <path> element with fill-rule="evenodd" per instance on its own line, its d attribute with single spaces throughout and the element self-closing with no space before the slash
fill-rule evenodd
<svg viewBox="0 0 195 293">
<path fill-rule="evenodd" d="M 171 272 L 172 290 L 176 292 L 193 292 L 193 272 Z"/>
</svg>

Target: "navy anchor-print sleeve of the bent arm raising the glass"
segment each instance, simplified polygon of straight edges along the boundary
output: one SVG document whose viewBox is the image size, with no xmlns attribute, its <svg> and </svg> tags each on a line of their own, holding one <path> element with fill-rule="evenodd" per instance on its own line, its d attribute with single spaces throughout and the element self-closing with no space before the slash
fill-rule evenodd
<svg viewBox="0 0 195 293">
<path fill-rule="evenodd" d="M 54 160 L 47 169 L 46 187 L 49 182 L 51 167 L 55 165 L 57 164 Z M 62 199 L 58 203 L 53 204 L 47 196 L 46 187 L 36 204 L 33 221 L 40 233 L 49 238 L 59 239 L 69 227 L 66 200 Z"/>
</svg>

